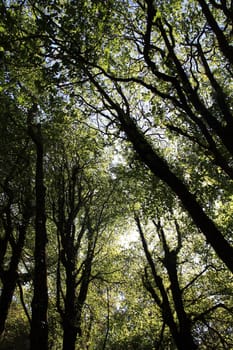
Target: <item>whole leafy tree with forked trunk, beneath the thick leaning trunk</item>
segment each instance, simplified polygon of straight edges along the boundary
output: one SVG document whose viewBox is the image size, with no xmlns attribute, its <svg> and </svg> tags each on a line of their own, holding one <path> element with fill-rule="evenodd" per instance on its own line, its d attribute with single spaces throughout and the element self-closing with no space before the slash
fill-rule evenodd
<svg viewBox="0 0 233 350">
<path fill-rule="evenodd" d="M 146 261 L 142 260 L 145 270 L 141 269 L 135 278 L 143 276 L 143 284 L 160 314 L 157 318 L 162 318 L 162 322 L 157 323 L 160 330 L 153 334 L 154 343 L 161 349 L 168 344 L 174 348 L 198 346 L 204 349 L 205 342 L 212 346 L 211 335 L 210 338 L 207 336 L 210 332 L 215 334 L 214 339 L 219 348 L 228 348 L 232 344 L 232 339 L 227 335 L 230 326 L 228 320 L 232 318 L 232 296 L 227 282 L 229 279 L 229 283 L 232 283 L 230 273 L 216 259 L 169 190 L 156 178 L 151 179 L 150 173 L 147 176 L 138 160 L 132 162 L 131 158 L 130 166 L 126 169 L 122 191 L 131 194 L 128 196 L 128 200 L 132 201 L 129 205 L 135 211 L 146 256 Z M 115 173 L 119 178 L 121 174 L 122 178 L 122 169 L 116 169 Z M 139 253 L 137 257 L 135 251 L 131 254 L 139 264 Z M 225 280 L 223 289 L 228 291 L 227 297 L 219 282 L 222 278 Z M 128 289 L 125 295 L 127 293 Z M 134 305 L 133 310 L 136 309 L 137 305 Z M 221 311 L 226 313 L 226 317 L 222 319 L 224 326 L 223 323 L 219 325 L 219 331 L 218 322 L 213 322 L 213 319 L 218 318 L 217 314 Z M 206 316 L 202 320 L 206 333 L 200 324 L 202 315 Z M 213 323 L 216 324 L 215 330 L 211 329 Z M 167 328 L 173 341 L 167 336 Z M 202 330 L 199 332 L 199 329 Z M 204 333 L 205 341 L 202 338 Z"/>
</svg>

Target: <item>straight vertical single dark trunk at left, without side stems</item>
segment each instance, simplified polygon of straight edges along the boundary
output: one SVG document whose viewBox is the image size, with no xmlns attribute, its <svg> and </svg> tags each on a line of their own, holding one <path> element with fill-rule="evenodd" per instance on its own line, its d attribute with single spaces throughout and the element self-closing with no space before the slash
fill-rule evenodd
<svg viewBox="0 0 233 350">
<path fill-rule="evenodd" d="M 36 128 L 34 131 L 33 128 Z M 36 145 L 36 218 L 35 218 L 35 267 L 34 295 L 32 300 L 31 350 L 48 350 L 48 290 L 46 263 L 46 214 L 44 169 L 43 169 L 43 140 L 40 126 L 30 126 L 29 134 Z"/>
</svg>

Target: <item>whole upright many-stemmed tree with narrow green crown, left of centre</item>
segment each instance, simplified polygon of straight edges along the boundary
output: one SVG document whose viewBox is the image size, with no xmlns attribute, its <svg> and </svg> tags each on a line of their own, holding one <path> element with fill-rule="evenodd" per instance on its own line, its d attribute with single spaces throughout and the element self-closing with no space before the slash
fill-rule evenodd
<svg viewBox="0 0 233 350">
<path fill-rule="evenodd" d="M 60 152 L 53 152 L 58 145 Z M 82 339 L 83 308 L 101 250 L 98 241 L 114 220 L 108 209 L 114 188 L 101 145 L 97 132 L 66 116 L 66 128 L 61 125 L 50 146 L 47 171 L 53 172 L 50 202 L 57 231 L 56 293 L 63 349 L 75 349 L 77 338 Z"/>
</svg>

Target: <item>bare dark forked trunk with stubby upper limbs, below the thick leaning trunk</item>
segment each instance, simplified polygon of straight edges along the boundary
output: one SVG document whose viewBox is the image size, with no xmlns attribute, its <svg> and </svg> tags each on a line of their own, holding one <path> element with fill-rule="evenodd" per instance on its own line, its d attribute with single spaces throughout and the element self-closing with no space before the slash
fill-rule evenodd
<svg viewBox="0 0 233 350">
<path fill-rule="evenodd" d="M 177 248 L 174 250 L 170 250 L 166 242 L 163 228 L 161 227 L 160 223 L 156 224 L 154 222 L 156 224 L 158 234 L 160 236 L 160 240 L 164 249 L 163 265 L 167 270 L 171 282 L 173 305 L 178 319 L 176 320 L 176 317 L 174 317 L 173 306 L 171 305 L 171 301 L 169 300 L 167 289 L 164 286 L 163 279 L 159 276 L 159 274 L 156 271 L 155 263 L 153 261 L 151 253 L 149 252 L 148 245 L 140 223 L 140 219 L 139 217 L 136 217 L 135 220 L 139 230 L 144 253 L 151 271 L 152 279 L 159 293 L 155 290 L 150 281 L 147 268 L 145 269 L 145 275 L 143 277 L 143 285 L 151 294 L 155 303 L 159 306 L 162 313 L 163 321 L 169 327 L 174 342 L 176 343 L 177 349 L 196 350 L 197 345 L 195 344 L 192 337 L 191 324 L 184 308 L 182 291 L 179 286 L 177 275 L 177 255 L 181 249 L 181 239 L 179 237 L 179 232 Z"/>
</svg>

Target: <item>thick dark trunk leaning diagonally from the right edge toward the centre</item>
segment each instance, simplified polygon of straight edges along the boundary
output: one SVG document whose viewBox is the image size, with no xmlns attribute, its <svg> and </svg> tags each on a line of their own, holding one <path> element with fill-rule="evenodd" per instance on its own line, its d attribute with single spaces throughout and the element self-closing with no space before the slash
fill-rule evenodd
<svg viewBox="0 0 233 350">
<path fill-rule="evenodd" d="M 195 196 L 189 192 L 186 185 L 169 169 L 165 160 L 155 152 L 130 117 L 119 107 L 117 110 L 122 129 L 132 142 L 135 151 L 143 163 L 148 166 L 155 176 L 159 177 L 174 191 L 185 209 L 189 212 L 196 226 L 205 235 L 207 242 L 213 247 L 229 270 L 233 272 L 233 248 L 231 245 L 218 230 L 214 222 L 206 215 Z"/>
</svg>

